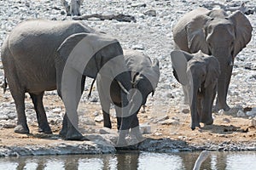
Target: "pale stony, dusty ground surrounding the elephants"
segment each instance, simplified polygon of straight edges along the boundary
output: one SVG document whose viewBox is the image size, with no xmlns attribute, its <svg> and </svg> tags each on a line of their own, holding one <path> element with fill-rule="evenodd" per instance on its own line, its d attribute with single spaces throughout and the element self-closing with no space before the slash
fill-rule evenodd
<svg viewBox="0 0 256 170">
<path fill-rule="evenodd" d="M 155 95 L 148 98 L 146 111 L 139 113 L 140 123 L 150 128 L 150 132 L 143 134 L 148 139 L 159 139 L 177 143 L 177 149 L 188 150 L 256 150 L 255 116 L 247 116 L 245 113 L 256 108 L 256 56 L 255 56 L 255 26 L 256 14 L 247 15 L 253 26 L 253 37 L 247 48 L 243 49 L 236 57 L 233 76 L 230 83 L 228 103 L 231 111 L 213 112 L 214 123 L 212 126 L 197 128 L 192 131 L 189 127 L 189 106 L 183 105 L 183 92 L 180 84 L 172 76 L 170 52 L 173 49 L 172 25 L 179 17 L 193 8 L 211 6 L 213 1 L 86 1 L 82 6 L 82 14 L 131 14 L 137 22 L 119 22 L 116 20 L 84 20 L 89 26 L 108 32 L 117 37 L 123 48 L 134 48 L 152 59 L 160 59 L 160 82 Z M 215 2 L 215 1 L 214 1 Z M 240 1 L 218 1 L 231 7 L 240 4 Z M 146 5 L 144 5 L 146 4 Z M 255 1 L 247 3 L 254 8 Z M 20 21 L 34 18 L 48 20 L 72 20 L 64 13 L 59 1 L 1 1 L 0 0 L 0 44 L 7 37 L 9 31 Z M 150 16 L 145 12 L 153 9 L 156 16 Z M 0 71 L 3 81 L 3 67 Z M 90 81 L 86 82 L 84 97 L 79 106 L 80 129 L 84 134 L 99 133 L 102 128 L 102 111 L 94 88 L 92 97 L 86 99 L 89 93 Z M 64 106 L 56 92 L 47 92 L 44 96 L 45 110 L 49 119 L 53 134 L 38 133 L 38 123 L 35 112 L 32 110 L 32 102 L 26 98 L 26 115 L 30 134 L 14 133 L 16 122 L 14 101 L 9 94 L 0 94 L 0 146 L 22 147 L 32 145 L 51 144 L 78 144 L 82 142 L 65 141 L 58 137 L 61 129 L 61 120 L 64 114 Z M 243 111 L 243 114 L 238 114 Z M 113 109 L 111 113 L 114 113 Z M 116 121 L 111 114 L 113 129 L 116 132 Z M 10 118 L 11 117 L 11 118 Z M 97 122 L 95 121 L 97 120 Z M 254 124 L 253 124 L 254 122 Z M 155 141 L 155 140 L 154 140 Z M 147 142 L 144 141 L 144 142 Z M 166 143 L 169 144 L 169 143 Z M 154 147 L 154 146 L 152 146 Z M 141 147 L 146 150 L 145 147 Z M 173 148 L 175 149 L 175 147 Z M 152 149 L 153 150 L 153 149 Z M 158 151 L 158 150 L 156 150 Z"/>
</svg>

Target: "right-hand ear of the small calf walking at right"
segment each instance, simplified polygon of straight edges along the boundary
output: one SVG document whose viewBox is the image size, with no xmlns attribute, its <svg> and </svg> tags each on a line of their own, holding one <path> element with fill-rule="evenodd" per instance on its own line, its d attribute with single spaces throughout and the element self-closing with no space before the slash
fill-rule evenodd
<svg viewBox="0 0 256 170">
<path fill-rule="evenodd" d="M 207 57 L 207 75 L 204 87 L 207 88 L 210 84 L 214 84 L 218 81 L 220 75 L 220 66 L 218 59 L 213 56 Z"/>
</svg>

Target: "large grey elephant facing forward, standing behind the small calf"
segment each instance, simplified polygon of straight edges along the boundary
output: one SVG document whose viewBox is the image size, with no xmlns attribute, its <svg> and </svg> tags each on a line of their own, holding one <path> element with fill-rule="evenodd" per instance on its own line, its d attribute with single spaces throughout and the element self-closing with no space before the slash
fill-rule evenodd
<svg viewBox="0 0 256 170">
<path fill-rule="evenodd" d="M 190 54 L 201 50 L 218 59 L 221 74 L 218 77 L 217 110 L 230 110 L 226 98 L 234 58 L 250 42 L 252 31 L 249 20 L 240 11 L 228 15 L 222 9 L 206 8 L 197 8 L 184 14 L 173 27 L 177 49 Z"/>
</svg>

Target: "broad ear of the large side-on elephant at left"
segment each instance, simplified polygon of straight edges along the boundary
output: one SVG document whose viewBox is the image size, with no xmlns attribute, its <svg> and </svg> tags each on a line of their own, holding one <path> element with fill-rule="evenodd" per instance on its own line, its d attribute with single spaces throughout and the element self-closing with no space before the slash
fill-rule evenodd
<svg viewBox="0 0 256 170">
<path fill-rule="evenodd" d="M 102 48 L 117 42 L 103 34 L 77 33 L 67 37 L 57 49 L 57 56 L 84 76 L 96 78 L 102 66 Z"/>
</svg>

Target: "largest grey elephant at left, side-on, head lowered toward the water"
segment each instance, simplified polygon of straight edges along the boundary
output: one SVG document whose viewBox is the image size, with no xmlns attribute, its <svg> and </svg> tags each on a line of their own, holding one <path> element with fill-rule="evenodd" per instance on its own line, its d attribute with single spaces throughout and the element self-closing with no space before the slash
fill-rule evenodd
<svg viewBox="0 0 256 170">
<path fill-rule="evenodd" d="M 131 75 L 126 71 L 119 42 L 96 33 L 79 21 L 29 20 L 16 26 L 3 42 L 2 61 L 18 115 L 15 133 L 29 133 L 25 114 L 25 94 L 30 94 L 38 118 L 38 131 L 51 133 L 44 111 L 44 91 L 57 89 L 66 114 L 61 136 L 82 139 L 77 108 L 85 77 L 96 75 L 114 79 L 122 86 L 121 99 L 128 105 Z M 108 66 L 105 66 L 108 64 Z M 104 66 L 103 66 L 104 65 Z"/>
</svg>

